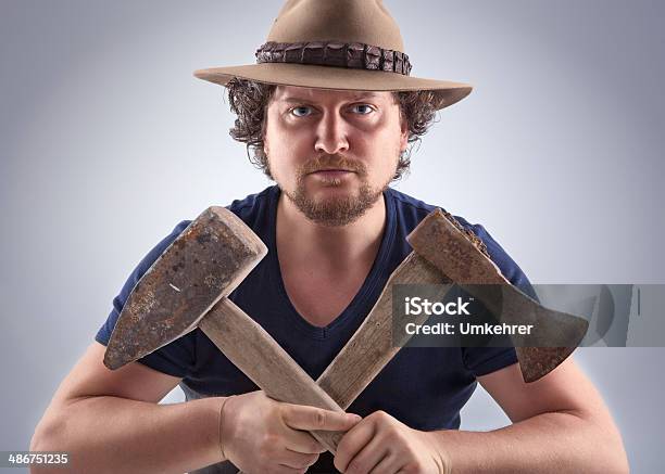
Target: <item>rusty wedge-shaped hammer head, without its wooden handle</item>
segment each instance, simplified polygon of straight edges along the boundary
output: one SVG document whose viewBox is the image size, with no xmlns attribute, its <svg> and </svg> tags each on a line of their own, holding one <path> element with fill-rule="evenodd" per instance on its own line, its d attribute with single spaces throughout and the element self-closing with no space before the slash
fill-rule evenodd
<svg viewBox="0 0 665 474">
<path fill-rule="evenodd" d="M 136 284 L 117 319 L 104 364 L 117 369 L 197 328 L 266 255 L 234 213 L 209 207 L 173 241 Z"/>
</svg>

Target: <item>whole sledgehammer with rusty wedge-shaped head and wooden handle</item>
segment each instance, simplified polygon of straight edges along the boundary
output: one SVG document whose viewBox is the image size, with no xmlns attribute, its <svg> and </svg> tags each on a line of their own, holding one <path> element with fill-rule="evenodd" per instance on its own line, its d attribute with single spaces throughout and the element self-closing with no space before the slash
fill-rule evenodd
<svg viewBox="0 0 665 474">
<path fill-rule="evenodd" d="M 268 397 L 342 411 L 226 297 L 266 253 L 259 236 L 235 214 L 216 206 L 204 210 L 135 285 L 106 346 L 104 364 L 118 369 L 198 326 Z M 312 435 L 335 452 L 343 433 Z"/>
</svg>

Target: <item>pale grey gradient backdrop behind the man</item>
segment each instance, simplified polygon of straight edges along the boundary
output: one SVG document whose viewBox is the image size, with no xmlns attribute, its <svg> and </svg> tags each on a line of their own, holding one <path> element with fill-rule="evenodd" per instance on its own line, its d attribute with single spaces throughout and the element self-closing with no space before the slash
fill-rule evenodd
<svg viewBox="0 0 665 474">
<path fill-rule="evenodd" d="M 665 283 L 665 3 L 386 3 L 414 75 L 476 87 L 398 189 L 486 226 L 534 283 Z M 0 450 L 27 449 L 148 249 L 268 184 L 191 72 L 252 62 L 279 5 L 0 2 Z M 576 356 L 636 473 L 665 462 L 664 350 Z M 478 389 L 463 427 L 506 421 Z"/>
</svg>

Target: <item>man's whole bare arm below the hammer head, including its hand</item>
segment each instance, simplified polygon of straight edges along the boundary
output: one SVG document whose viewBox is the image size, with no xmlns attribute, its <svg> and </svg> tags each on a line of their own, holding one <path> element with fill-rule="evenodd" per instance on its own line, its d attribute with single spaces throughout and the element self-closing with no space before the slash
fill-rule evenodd
<svg viewBox="0 0 665 474">
<path fill-rule="evenodd" d="M 325 450 L 306 431 L 347 431 L 360 421 L 260 390 L 234 396 L 223 417 L 222 397 L 159 406 L 177 377 L 138 362 L 110 371 L 103 353 L 98 343 L 88 348 L 30 444 L 33 451 L 70 452 L 68 472 L 181 474 L 228 459 L 250 473 L 303 473 Z"/>
</svg>

